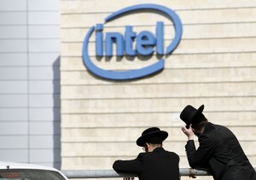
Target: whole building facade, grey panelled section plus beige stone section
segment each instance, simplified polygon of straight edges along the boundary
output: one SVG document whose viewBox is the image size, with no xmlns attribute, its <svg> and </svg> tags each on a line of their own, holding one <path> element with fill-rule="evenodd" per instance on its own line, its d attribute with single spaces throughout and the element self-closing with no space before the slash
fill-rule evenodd
<svg viewBox="0 0 256 180">
<path fill-rule="evenodd" d="M 137 137 L 158 126 L 169 133 L 164 147 L 180 155 L 180 167 L 189 167 L 179 113 L 188 104 L 204 104 L 207 118 L 234 131 L 256 166 L 255 0 L 1 3 L 0 160 L 111 169 L 114 160 L 142 152 Z M 166 49 L 178 32 L 165 11 L 140 8 L 108 21 L 121 9 L 145 4 L 172 9 L 181 20 L 182 37 L 172 53 L 157 45 L 162 41 Z M 138 42 L 142 32 L 146 39 Z M 123 44 L 109 38 L 113 33 Z M 162 60 L 164 68 L 145 77 L 101 76 L 122 76 Z"/>
</svg>

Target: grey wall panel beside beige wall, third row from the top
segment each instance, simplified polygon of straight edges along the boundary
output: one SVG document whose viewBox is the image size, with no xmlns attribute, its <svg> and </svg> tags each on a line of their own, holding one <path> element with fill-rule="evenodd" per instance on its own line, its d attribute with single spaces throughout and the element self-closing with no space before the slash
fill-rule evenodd
<svg viewBox="0 0 256 180">
<path fill-rule="evenodd" d="M 29 26 L 29 38 L 61 38 L 60 26 Z"/>
</svg>

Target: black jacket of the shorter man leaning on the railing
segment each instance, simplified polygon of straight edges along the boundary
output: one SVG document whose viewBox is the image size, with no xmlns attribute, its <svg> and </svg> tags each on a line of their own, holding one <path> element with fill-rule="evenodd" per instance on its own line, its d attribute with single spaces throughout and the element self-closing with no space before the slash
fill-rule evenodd
<svg viewBox="0 0 256 180">
<path fill-rule="evenodd" d="M 138 154 L 135 160 L 116 160 L 113 169 L 136 173 L 140 180 L 179 180 L 179 157 L 164 148 Z"/>
</svg>

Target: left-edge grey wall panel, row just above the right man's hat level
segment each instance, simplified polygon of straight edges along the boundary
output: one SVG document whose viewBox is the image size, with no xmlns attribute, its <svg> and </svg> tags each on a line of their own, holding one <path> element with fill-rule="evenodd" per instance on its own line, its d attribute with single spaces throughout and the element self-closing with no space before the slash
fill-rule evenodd
<svg viewBox="0 0 256 180">
<path fill-rule="evenodd" d="M 0 95 L 0 107 L 27 106 L 27 95 Z"/>
</svg>

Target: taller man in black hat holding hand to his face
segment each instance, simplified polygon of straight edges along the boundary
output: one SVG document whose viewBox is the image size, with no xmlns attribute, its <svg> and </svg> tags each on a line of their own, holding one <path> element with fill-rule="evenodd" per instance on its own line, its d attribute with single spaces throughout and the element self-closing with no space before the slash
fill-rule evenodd
<svg viewBox="0 0 256 180">
<path fill-rule="evenodd" d="M 209 168 L 217 180 L 256 180 L 256 172 L 236 136 L 228 128 L 208 122 L 203 109 L 204 105 L 198 109 L 188 105 L 180 114 L 186 124 L 182 131 L 188 136 L 185 148 L 189 165 Z M 197 149 L 194 134 L 200 142 Z"/>
</svg>

